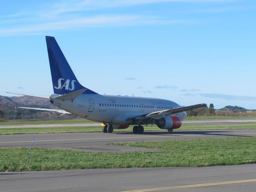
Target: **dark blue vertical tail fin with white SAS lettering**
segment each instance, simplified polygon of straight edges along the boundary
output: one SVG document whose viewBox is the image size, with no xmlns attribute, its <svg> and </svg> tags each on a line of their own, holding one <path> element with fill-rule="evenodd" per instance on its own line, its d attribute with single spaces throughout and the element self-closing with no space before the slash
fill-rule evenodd
<svg viewBox="0 0 256 192">
<path fill-rule="evenodd" d="M 86 89 L 83 94 L 98 94 L 78 82 L 54 37 L 46 36 L 46 44 L 55 94 L 67 94 L 80 89 Z"/>
</svg>

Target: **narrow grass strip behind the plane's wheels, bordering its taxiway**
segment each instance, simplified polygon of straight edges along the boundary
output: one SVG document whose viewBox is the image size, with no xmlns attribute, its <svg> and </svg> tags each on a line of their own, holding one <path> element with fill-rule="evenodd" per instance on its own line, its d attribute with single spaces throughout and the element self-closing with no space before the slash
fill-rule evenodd
<svg viewBox="0 0 256 192">
<path fill-rule="evenodd" d="M 128 131 L 132 132 L 132 127 L 127 129 L 114 130 L 114 132 Z M 243 122 L 231 125 L 182 125 L 174 132 L 179 130 L 207 130 L 207 129 L 256 129 L 255 122 Z M 154 126 L 144 126 L 145 131 L 163 131 Z M 0 128 L 0 135 L 4 134 L 38 134 L 38 133 L 78 133 L 78 132 L 102 132 L 102 126 L 66 126 L 66 127 L 33 127 L 33 128 Z"/>
</svg>

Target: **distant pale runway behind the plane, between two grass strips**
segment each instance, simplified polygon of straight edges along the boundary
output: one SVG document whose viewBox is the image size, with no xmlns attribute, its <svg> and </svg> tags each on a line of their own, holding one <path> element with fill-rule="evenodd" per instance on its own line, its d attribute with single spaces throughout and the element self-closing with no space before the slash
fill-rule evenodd
<svg viewBox="0 0 256 192">
<path fill-rule="evenodd" d="M 230 119 L 230 120 L 193 120 L 183 121 L 190 125 L 227 125 L 242 122 L 256 122 L 256 119 Z M 74 123 L 74 124 L 42 124 L 42 125 L 0 125 L 0 128 L 32 128 L 32 127 L 67 127 L 67 126 L 100 126 L 101 123 Z"/>
</svg>

